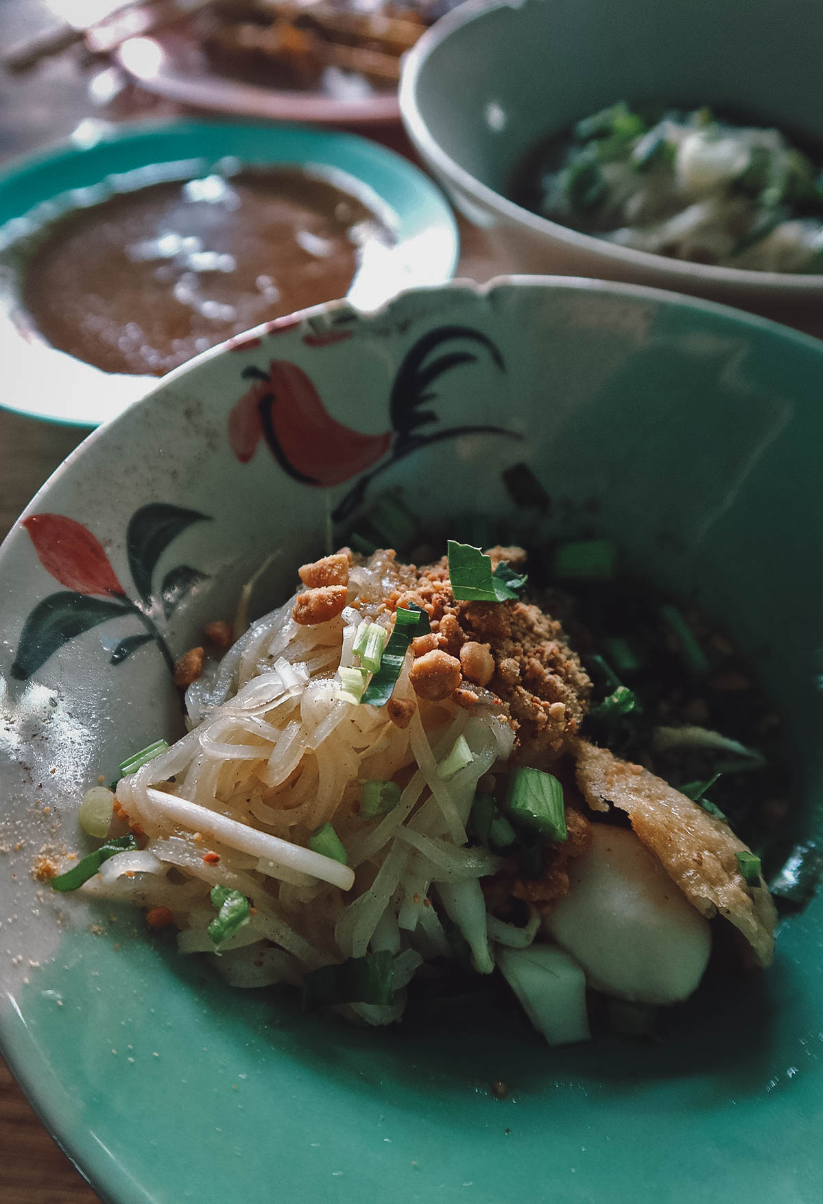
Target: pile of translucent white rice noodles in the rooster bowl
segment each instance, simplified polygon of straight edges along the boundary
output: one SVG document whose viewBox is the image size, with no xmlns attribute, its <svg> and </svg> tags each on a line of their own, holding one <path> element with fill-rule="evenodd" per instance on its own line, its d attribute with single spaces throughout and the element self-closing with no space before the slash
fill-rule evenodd
<svg viewBox="0 0 823 1204">
<path fill-rule="evenodd" d="M 469 718 L 451 702 L 416 700 L 408 665 L 395 687 L 395 697 L 418 704 L 405 730 L 385 707 L 336 698 L 357 624 L 389 626 L 383 600 L 396 585 L 392 562 L 375 554 L 350 573 L 357 609 L 298 626 L 291 598 L 253 624 L 189 687 L 189 733 L 118 786 L 146 850 L 112 857 L 85 887 L 170 908 L 183 952 L 214 950 L 211 889 L 241 891 L 253 915 L 218 960 L 236 986 L 298 984 L 320 966 L 389 949 L 395 1003 L 345 1009 L 368 1023 L 397 1020 L 421 962 L 451 956 L 438 908 L 463 932 L 478 968 L 491 969 L 479 879 L 498 858 L 466 846 L 466 825 L 478 780 L 514 743 L 481 706 Z M 474 759 L 443 780 L 437 766 L 460 734 Z M 362 783 L 390 779 L 403 786 L 399 802 L 385 816 L 362 818 Z M 326 821 L 348 866 L 307 848 Z M 206 851 L 219 861 L 203 861 Z"/>
</svg>

